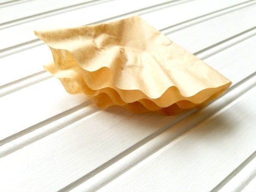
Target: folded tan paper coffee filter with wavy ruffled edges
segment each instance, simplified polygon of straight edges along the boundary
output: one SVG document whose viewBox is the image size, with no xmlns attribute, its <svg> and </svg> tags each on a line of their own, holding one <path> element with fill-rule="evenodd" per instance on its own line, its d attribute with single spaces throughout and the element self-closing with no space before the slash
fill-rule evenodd
<svg viewBox="0 0 256 192">
<path fill-rule="evenodd" d="M 231 84 L 138 16 L 35 34 L 52 51 L 45 69 L 101 108 L 172 115 L 206 105 Z"/>
</svg>

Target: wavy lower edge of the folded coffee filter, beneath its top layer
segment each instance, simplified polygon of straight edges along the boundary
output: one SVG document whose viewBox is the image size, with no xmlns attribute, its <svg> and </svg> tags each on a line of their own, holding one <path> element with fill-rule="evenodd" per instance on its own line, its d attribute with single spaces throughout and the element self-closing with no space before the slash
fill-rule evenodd
<svg viewBox="0 0 256 192">
<path fill-rule="evenodd" d="M 93 90 L 91 89 L 86 81 L 81 77 L 81 75 L 79 75 L 78 73 L 76 73 L 75 71 L 72 70 L 58 70 L 54 64 L 50 64 L 48 66 L 44 66 L 45 69 L 47 71 L 49 71 L 50 73 L 52 73 L 54 76 L 56 76 L 58 79 L 61 80 L 61 83 L 64 85 L 65 89 L 67 90 L 67 92 L 74 94 L 74 93 L 81 93 L 81 90 L 83 93 L 85 93 L 88 96 L 97 96 L 100 93 L 106 93 L 110 98 L 112 98 L 113 100 L 113 105 L 127 105 L 128 103 L 132 103 L 132 102 L 140 102 L 142 103 L 145 108 L 147 108 L 148 110 L 156 110 L 159 108 L 166 108 L 169 107 L 170 105 L 177 103 L 177 105 L 180 108 L 193 108 L 198 104 L 201 104 L 202 102 L 206 101 L 207 99 L 211 98 L 214 99 L 216 97 L 218 97 L 222 92 L 224 92 L 230 85 L 231 82 L 228 84 L 224 84 L 220 87 L 212 87 L 212 88 L 208 88 L 205 90 L 201 90 L 200 92 L 196 93 L 193 96 L 190 97 L 184 97 L 181 96 L 177 87 L 170 87 L 167 91 L 170 91 L 172 93 L 172 97 L 169 96 L 168 99 L 168 94 L 163 94 L 160 98 L 157 99 L 151 99 L 149 97 L 147 97 L 145 94 L 142 94 L 142 97 L 140 98 L 136 98 L 135 100 L 133 98 L 129 98 L 130 95 L 133 95 L 134 91 L 137 93 L 138 91 L 141 92 L 140 90 L 125 90 L 126 92 L 129 93 L 123 93 L 122 91 L 124 90 L 120 90 L 120 89 L 113 89 L 112 87 L 105 87 L 99 90 Z M 76 87 L 73 86 L 72 83 L 76 83 L 79 84 L 79 86 L 81 87 L 81 90 L 79 91 L 74 91 L 72 90 L 72 87 Z M 170 90 L 172 88 L 175 88 L 175 90 L 177 91 L 178 96 L 176 96 L 176 98 L 173 97 L 173 90 Z M 142 93 L 142 92 L 141 92 Z M 204 94 L 206 93 L 206 94 Z M 209 94 L 210 93 L 210 94 Z"/>
</svg>

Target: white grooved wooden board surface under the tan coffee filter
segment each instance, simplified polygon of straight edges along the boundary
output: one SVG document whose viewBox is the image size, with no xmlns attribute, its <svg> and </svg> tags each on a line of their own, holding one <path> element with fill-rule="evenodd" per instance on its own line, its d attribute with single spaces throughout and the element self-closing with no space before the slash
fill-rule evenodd
<svg viewBox="0 0 256 192">
<path fill-rule="evenodd" d="M 43 70 L 34 29 L 129 15 L 232 87 L 200 111 L 133 114 Z M 4 0 L 0 29 L 0 191 L 256 191 L 256 0 Z"/>
</svg>

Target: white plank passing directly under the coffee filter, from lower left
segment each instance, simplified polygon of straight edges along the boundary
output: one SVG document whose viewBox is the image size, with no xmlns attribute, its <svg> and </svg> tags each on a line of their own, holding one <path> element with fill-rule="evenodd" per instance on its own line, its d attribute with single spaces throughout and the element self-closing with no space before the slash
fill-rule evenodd
<svg viewBox="0 0 256 192">
<path fill-rule="evenodd" d="M 251 63 L 252 60 L 245 62 L 244 66 L 248 69 L 248 73 L 240 76 L 239 72 L 244 68 L 241 65 L 241 61 L 244 60 L 246 54 L 236 55 L 234 61 L 230 61 L 231 63 L 228 63 L 229 56 L 234 55 L 243 46 L 250 47 L 250 44 L 253 44 L 253 48 L 255 48 L 255 44 L 252 42 L 248 39 L 241 44 L 237 44 L 221 52 L 226 56 L 226 65 L 222 68 L 222 65 L 219 64 L 215 68 L 221 73 L 233 74 L 231 78 L 234 82 L 233 86 L 238 81 L 246 78 L 252 71 L 255 71 L 255 68 L 253 68 L 255 66 Z M 224 59 L 221 53 L 220 55 L 212 56 L 215 57 L 213 60 L 217 61 L 216 63 Z M 236 68 L 236 70 L 232 70 L 232 68 Z M 239 93 L 240 89 L 237 87 L 235 90 Z M 221 98 L 218 100 L 220 102 L 230 102 L 230 100 L 221 100 Z M 93 108 L 93 106 L 88 107 Z M 93 175 L 93 170 L 102 165 L 103 167 L 107 166 L 113 157 L 118 157 L 120 153 L 128 148 L 132 151 L 133 145 L 136 145 L 136 143 L 139 143 L 146 137 L 150 137 L 150 135 L 164 127 L 169 128 L 173 122 L 177 122 L 183 118 L 184 116 L 168 117 L 152 113 L 138 115 L 118 107 L 97 113 L 94 112 L 90 116 L 86 116 L 66 128 L 62 128 L 47 137 L 43 137 L 20 150 L 2 157 L 0 159 L 0 165 L 2 165 L 1 170 L 6 175 L 9 175 L 6 176 L 6 180 L 11 179 L 13 177 L 12 175 L 17 176 L 17 180 L 15 180 L 17 185 L 14 186 L 13 190 L 17 189 L 16 187 L 26 187 L 26 189 L 31 191 L 38 187 L 52 191 L 59 190 L 79 180 L 84 175 L 85 178 L 90 177 L 90 174 Z M 186 119 L 184 121 L 186 122 Z M 44 129 L 44 127 L 42 128 Z M 249 140 L 248 138 L 245 139 Z M 251 142 L 251 140 L 249 141 Z M 49 150 L 46 151 L 44 149 Z M 21 154 L 26 155 L 20 158 Z M 53 154 L 54 156 L 52 156 Z M 241 158 L 245 157 L 246 155 L 241 155 Z M 11 167 L 8 166 L 10 161 L 12 161 Z M 60 161 L 61 164 L 59 164 Z M 35 164 L 30 166 L 31 163 Z M 54 172 L 50 172 L 49 170 L 53 168 Z M 40 169 L 40 172 L 38 172 L 38 169 Z M 27 177 L 22 179 L 19 177 L 21 174 L 25 174 Z M 40 178 L 40 180 L 31 183 L 28 180 L 30 177 Z M 59 177 L 62 179 L 59 180 Z"/>
</svg>

